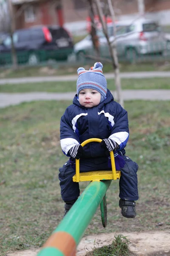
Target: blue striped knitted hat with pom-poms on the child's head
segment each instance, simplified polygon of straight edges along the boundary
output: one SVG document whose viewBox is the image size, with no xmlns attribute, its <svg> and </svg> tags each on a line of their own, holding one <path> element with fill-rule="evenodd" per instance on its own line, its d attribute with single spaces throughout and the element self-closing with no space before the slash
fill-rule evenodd
<svg viewBox="0 0 170 256">
<path fill-rule="evenodd" d="M 77 74 L 79 75 L 77 79 L 77 95 L 83 89 L 94 89 L 101 93 L 102 102 L 107 93 L 107 81 L 105 76 L 102 74 L 102 63 L 96 62 L 94 67 L 91 67 L 90 70 L 85 70 L 84 67 L 79 67 Z"/>
</svg>

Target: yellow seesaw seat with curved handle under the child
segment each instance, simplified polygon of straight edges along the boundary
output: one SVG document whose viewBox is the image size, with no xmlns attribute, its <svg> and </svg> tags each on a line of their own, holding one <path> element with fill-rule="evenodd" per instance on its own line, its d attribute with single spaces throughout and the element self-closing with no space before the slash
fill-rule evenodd
<svg viewBox="0 0 170 256">
<path fill-rule="evenodd" d="M 101 139 L 92 138 L 85 140 L 81 145 L 85 146 L 90 142 L 101 142 Z M 99 180 L 117 180 L 121 176 L 120 171 L 116 171 L 114 154 L 113 151 L 110 152 L 111 155 L 111 167 L 112 171 L 93 171 L 93 172 L 79 172 L 79 159 L 76 159 L 76 174 L 73 176 L 74 182 L 80 181 L 99 181 Z"/>
</svg>

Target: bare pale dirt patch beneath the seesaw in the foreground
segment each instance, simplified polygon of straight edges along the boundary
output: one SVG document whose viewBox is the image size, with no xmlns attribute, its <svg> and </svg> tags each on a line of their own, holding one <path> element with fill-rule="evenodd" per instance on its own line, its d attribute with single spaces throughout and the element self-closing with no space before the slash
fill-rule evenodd
<svg viewBox="0 0 170 256">
<path fill-rule="evenodd" d="M 116 233 L 117 235 L 119 233 Z M 130 241 L 130 250 L 136 256 L 170 256 L 170 231 L 148 233 L 122 233 Z M 85 256 L 94 246 L 111 244 L 115 233 L 84 237 L 77 247 L 77 256 Z M 8 253 L 7 256 L 36 256 L 40 249 L 30 249 Z"/>
</svg>

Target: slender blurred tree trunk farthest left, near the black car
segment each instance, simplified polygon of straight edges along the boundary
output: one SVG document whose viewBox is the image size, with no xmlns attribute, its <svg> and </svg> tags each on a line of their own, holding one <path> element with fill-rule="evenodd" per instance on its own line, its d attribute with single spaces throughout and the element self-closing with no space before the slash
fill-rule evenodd
<svg viewBox="0 0 170 256">
<path fill-rule="evenodd" d="M 14 47 L 14 40 L 13 35 L 15 31 L 15 20 L 14 20 L 14 13 L 13 13 L 13 6 L 11 3 L 11 0 L 8 0 L 8 8 L 9 8 L 9 15 L 10 15 L 10 36 L 11 36 L 11 55 L 12 55 L 12 64 L 13 69 L 17 70 L 18 64 L 17 64 L 17 54 Z"/>
</svg>

